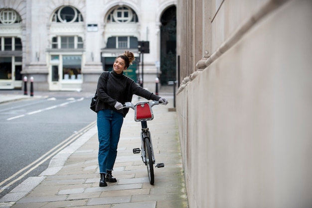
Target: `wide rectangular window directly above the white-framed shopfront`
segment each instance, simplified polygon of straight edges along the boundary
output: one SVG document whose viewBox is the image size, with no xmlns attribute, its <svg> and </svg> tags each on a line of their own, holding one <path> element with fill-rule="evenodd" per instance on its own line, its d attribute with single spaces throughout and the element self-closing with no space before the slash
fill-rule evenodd
<svg viewBox="0 0 312 208">
<path fill-rule="evenodd" d="M 83 40 L 78 36 L 56 36 L 52 37 L 51 48 L 83 48 Z"/>
</svg>

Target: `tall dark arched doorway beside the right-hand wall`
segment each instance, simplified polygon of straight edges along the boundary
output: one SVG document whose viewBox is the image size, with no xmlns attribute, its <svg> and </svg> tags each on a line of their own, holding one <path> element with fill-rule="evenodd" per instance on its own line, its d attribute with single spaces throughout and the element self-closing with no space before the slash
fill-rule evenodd
<svg viewBox="0 0 312 208">
<path fill-rule="evenodd" d="M 168 7 L 160 18 L 160 82 L 176 80 L 176 7 Z"/>
</svg>

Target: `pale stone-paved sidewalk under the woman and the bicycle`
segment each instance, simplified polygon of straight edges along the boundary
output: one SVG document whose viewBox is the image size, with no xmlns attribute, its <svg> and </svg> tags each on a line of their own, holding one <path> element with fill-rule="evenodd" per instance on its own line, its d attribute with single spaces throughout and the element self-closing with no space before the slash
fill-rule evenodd
<svg viewBox="0 0 312 208">
<path fill-rule="evenodd" d="M 0 199 L 0 207 L 187 208 L 176 113 L 170 110 L 172 98 L 166 106 L 154 106 L 155 118 L 148 121 L 156 163 L 164 163 L 163 168 L 154 168 L 154 185 L 149 183 L 141 154 L 132 152 L 141 146 L 141 123 L 134 121 L 134 111 L 130 109 L 113 171 L 117 183 L 99 187 L 98 137 L 94 125 L 53 157 L 40 176 L 28 178 Z M 135 97 L 133 103 L 137 102 Z"/>
</svg>

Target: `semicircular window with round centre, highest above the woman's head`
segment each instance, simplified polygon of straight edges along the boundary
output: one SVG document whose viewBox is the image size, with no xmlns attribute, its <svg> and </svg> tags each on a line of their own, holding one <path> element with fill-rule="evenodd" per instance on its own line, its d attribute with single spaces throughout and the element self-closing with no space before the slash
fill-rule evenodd
<svg viewBox="0 0 312 208">
<path fill-rule="evenodd" d="M 138 22 L 136 12 L 128 6 L 116 7 L 107 17 L 108 23 Z"/>
</svg>

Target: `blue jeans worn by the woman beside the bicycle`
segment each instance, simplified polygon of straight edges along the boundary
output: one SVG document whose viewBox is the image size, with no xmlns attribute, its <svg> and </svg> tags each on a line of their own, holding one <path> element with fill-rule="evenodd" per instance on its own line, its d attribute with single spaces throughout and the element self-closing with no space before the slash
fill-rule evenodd
<svg viewBox="0 0 312 208">
<path fill-rule="evenodd" d="M 100 173 L 107 173 L 108 170 L 113 170 L 115 164 L 124 117 L 110 109 L 100 110 L 97 114 Z"/>
</svg>

